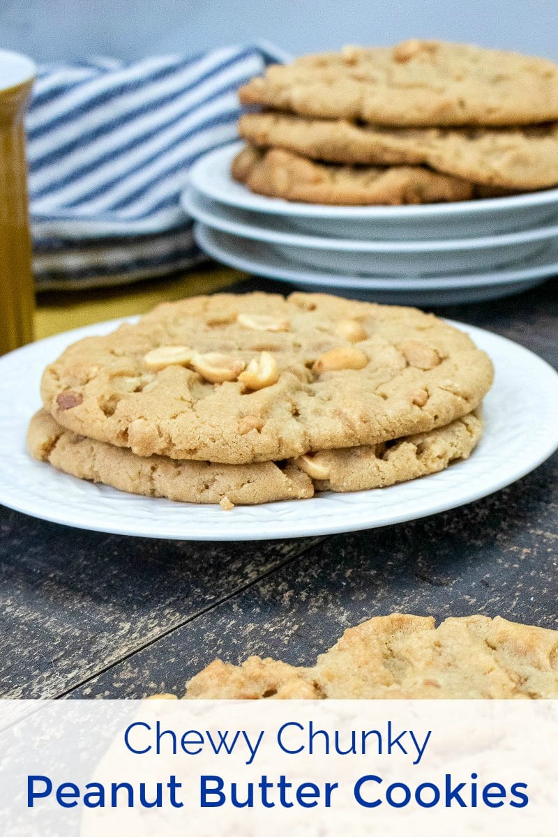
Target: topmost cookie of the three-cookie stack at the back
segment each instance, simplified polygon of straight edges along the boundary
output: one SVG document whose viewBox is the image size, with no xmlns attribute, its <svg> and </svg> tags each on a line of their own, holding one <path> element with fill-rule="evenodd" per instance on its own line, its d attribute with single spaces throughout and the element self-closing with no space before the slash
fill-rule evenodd
<svg viewBox="0 0 558 837">
<path fill-rule="evenodd" d="M 499 49 L 410 40 L 273 65 L 247 105 L 387 126 L 514 126 L 558 120 L 558 66 Z"/>
</svg>

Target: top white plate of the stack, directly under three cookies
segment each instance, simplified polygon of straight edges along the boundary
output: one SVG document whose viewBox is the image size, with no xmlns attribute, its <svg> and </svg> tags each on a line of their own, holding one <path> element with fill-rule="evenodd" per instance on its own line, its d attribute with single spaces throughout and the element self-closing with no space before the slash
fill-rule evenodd
<svg viewBox="0 0 558 837">
<path fill-rule="evenodd" d="M 467 239 L 532 229 L 558 219 L 558 189 L 404 207 L 337 207 L 264 198 L 233 181 L 230 175 L 231 161 L 242 146 L 242 142 L 235 142 L 205 154 L 190 169 L 190 184 L 218 203 L 279 215 L 315 235 L 407 241 Z"/>
</svg>

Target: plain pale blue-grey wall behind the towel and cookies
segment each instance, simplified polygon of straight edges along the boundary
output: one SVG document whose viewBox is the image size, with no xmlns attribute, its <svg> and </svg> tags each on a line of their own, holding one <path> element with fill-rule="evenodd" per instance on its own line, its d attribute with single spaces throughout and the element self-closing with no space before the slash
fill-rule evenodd
<svg viewBox="0 0 558 837">
<path fill-rule="evenodd" d="M 267 39 L 297 54 L 442 38 L 558 59 L 558 0 L 0 0 L 0 46 L 136 59 Z"/>
</svg>

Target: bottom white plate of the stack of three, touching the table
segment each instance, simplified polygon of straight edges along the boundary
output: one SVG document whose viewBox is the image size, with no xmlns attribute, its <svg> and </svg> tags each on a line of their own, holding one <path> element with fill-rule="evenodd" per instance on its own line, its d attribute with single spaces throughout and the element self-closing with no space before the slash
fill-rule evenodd
<svg viewBox="0 0 558 837">
<path fill-rule="evenodd" d="M 355 299 L 400 305 L 443 306 L 479 302 L 519 294 L 558 274 L 558 244 L 515 270 L 458 276 L 392 277 L 389 279 L 312 270 L 295 264 L 272 246 L 194 225 L 197 244 L 214 259 L 258 276 L 289 282 L 305 290 L 327 290 Z"/>
</svg>

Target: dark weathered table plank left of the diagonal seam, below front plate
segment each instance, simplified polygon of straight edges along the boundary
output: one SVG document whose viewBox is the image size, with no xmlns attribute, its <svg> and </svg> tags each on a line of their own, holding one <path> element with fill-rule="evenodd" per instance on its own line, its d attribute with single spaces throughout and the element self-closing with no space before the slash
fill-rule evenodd
<svg viewBox="0 0 558 837">
<path fill-rule="evenodd" d="M 312 543 L 119 537 L 2 507 L 0 533 L 2 697 L 64 695 Z"/>
</svg>

